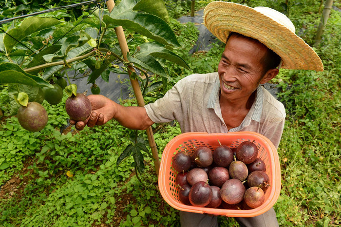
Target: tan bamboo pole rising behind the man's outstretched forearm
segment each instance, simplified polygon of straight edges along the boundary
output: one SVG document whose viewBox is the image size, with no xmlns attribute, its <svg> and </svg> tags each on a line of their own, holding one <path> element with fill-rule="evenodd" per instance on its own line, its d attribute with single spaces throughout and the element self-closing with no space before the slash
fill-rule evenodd
<svg viewBox="0 0 341 227">
<path fill-rule="evenodd" d="M 114 0 L 108 0 L 106 3 L 107 3 L 109 12 L 111 12 L 115 6 Z M 118 43 L 120 45 L 120 48 L 123 54 L 123 58 L 124 60 L 127 60 L 127 53 L 129 52 L 129 49 L 128 49 L 128 44 L 127 44 L 127 39 L 126 39 L 126 36 L 124 35 L 122 26 L 115 27 L 115 32 L 116 32 Z M 129 76 L 131 76 L 132 72 L 135 72 L 135 69 L 132 66 L 129 66 L 129 69 L 130 70 L 128 70 L 128 73 L 129 73 Z M 137 100 L 137 104 L 143 107 L 145 105 L 145 102 L 143 99 L 143 95 L 142 95 L 138 80 L 130 79 L 130 82 L 133 87 L 133 91 Z M 159 155 L 158 155 L 158 151 L 156 148 L 156 143 L 154 140 L 154 135 L 152 132 L 152 126 L 148 127 L 148 129 L 146 129 L 146 132 L 148 136 L 149 146 L 151 147 L 151 150 L 152 150 L 155 172 L 156 172 L 156 175 L 159 176 L 160 160 L 159 160 Z"/>
</svg>

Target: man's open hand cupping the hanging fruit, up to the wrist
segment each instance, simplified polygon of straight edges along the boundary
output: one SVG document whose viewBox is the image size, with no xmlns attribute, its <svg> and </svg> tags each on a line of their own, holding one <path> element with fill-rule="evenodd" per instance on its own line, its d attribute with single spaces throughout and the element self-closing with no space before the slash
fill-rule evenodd
<svg viewBox="0 0 341 227">
<path fill-rule="evenodd" d="M 83 130 L 87 125 L 94 127 L 95 125 L 104 125 L 114 117 L 115 102 L 103 95 L 87 96 L 91 102 L 92 112 L 85 121 L 75 121 L 70 119 L 70 124 L 75 125 L 76 130 Z"/>
</svg>

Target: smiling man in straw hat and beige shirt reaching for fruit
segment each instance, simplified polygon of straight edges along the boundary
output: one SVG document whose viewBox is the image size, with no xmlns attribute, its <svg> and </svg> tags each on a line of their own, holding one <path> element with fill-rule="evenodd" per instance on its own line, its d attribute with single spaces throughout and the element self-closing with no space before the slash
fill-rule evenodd
<svg viewBox="0 0 341 227">
<path fill-rule="evenodd" d="M 218 72 L 190 75 L 163 98 L 145 107 L 123 107 L 102 95 L 89 95 L 93 113 L 76 129 L 102 125 L 114 118 L 121 125 L 144 130 L 153 123 L 177 120 L 181 132 L 253 131 L 278 148 L 285 120 L 284 106 L 264 84 L 279 68 L 322 71 L 321 59 L 283 14 L 266 7 L 250 8 L 211 2 L 204 10 L 208 30 L 226 43 Z M 180 212 L 181 225 L 217 226 L 217 218 Z M 241 226 L 278 226 L 273 208 L 251 218 L 236 218 Z"/>
</svg>

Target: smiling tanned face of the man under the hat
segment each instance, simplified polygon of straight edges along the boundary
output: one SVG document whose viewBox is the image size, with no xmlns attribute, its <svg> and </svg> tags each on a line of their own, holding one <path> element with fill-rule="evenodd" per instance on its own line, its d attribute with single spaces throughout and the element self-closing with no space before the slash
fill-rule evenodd
<svg viewBox="0 0 341 227">
<path fill-rule="evenodd" d="M 247 101 L 264 75 L 261 59 L 266 47 L 248 38 L 231 36 L 218 65 L 221 98 Z"/>
</svg>

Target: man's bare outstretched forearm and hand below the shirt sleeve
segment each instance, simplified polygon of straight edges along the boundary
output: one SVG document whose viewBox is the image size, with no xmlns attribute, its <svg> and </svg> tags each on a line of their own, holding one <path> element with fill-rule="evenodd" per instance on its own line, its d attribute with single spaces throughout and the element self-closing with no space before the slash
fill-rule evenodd
<svg viewBox="0 0 341 227">
<path fill-rule="evenodd" d="M 144 107 L 124 107 L 103 95 L 89 95 L 92 113 L 85 121 L 74 121 L 70 119 L 70 124 L 75 125 L 77 130 L 83 130 L 87 125 L 103 125 L 111 119 L 117 120 L 122 126 L 129 129 L 145 130 L 154 122 L 149 118 Z"/>
</svg>

